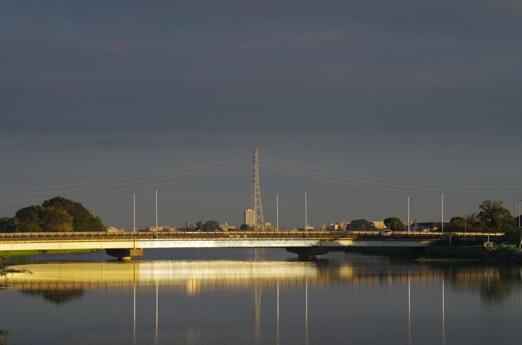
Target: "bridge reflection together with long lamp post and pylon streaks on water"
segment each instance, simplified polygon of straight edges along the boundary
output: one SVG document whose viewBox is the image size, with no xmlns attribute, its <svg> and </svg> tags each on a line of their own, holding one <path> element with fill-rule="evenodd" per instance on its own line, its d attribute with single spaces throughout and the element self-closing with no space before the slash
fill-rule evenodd
<svg viewBox="0 0 522 345">
<path fill-rule="evenodd" d="M 277 338 L 279 343 L 280 293 L 302 296 L 301 312 L 304 310 L 304 343 L 309 342 L 310 292 L 327 294 L 339 286 L 347 293 L 382 290 L 402 290 L 405 310 L 408 310 L 408 343 L 411 343 L 411 293 L 434 290 L 442 312 L 442 343 L 446 342 L 444 293 L 480 294 L 482 302 L 493 303 L 520 291 L 520 268 L 507 267 L 448 267 L 407 263 L 383 267 L 354 265 L 349 261 L 126 261 L 126 262 L 46 262 L 36 265 L 20 265 L 34 275 L 10 277 L 9 285 L 21 293 L 42 295 L 53 303 L 67 303 L 92 290 L 106 294 L 133 296 L 133 341 L 136 334 L 136 300 L 140 295 L 155 297 L 156 329 L 158 339 L 158 304 L 165 294 L 182 294 L 187 299 L 201 295 L 250 294 L 253 303 L 254 343 L 260 343 L 261 310 L 273 310 L 277 315 Z M 277 304 L 264 305 L 265 295 L 277 296 Z M 407 295 L 407 299 L 406 299 Z M 269 298 L 269 297 L 267 297 Z M 284 297 L 282 297 L 284 298 Z M 314 297 L 312 297 L 314 298 Z M 275 301 L 274 301 L 275 302 Z M 414 302 L 413 302 L 414 303 Z M 417 299 L 418 303 L 418 299 Z M 152 307 L 152 306 L 150 306 Z M 522 312 L 520 298 L 517 308 Z M 273 308 L 273 309 L 272 309 Z M 288 308 L 288 305 L 283 308 Z M 276 310 L 277 309 L 277 310 Z M 301 314 L 302 315 L 302 314 Z M 302 317 L 302 316 L 300 316 Z M 194 330 L 187 329 L 189 337 Z M 197 338 L 197 335 L 193 335 Z"/>
</svg>

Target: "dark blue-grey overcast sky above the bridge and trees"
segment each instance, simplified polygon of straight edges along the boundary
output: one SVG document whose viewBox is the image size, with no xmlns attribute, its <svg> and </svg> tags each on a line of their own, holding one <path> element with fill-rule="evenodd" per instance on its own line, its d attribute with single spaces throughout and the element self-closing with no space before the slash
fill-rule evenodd
<svg viewBox="0 0 522 345">
<path fill-rule="evenodd" d="M 0 217 L 131 228 L 136 192 L 145 228 L 157 189 L 159 225 L 239 227 L 254 148 L 281 229 L 522 199 L 519 1 L 5 1 L 0 32 Z"/>
</svg>

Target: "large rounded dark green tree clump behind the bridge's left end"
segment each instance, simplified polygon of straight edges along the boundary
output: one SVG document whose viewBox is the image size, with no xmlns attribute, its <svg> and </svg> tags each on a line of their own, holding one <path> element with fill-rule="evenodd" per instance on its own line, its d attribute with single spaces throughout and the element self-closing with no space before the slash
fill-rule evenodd
<svg viewBox="0 0 522 345">
<path fill-rule="evenodd" d="M 107 231 L 98 216 L 62 196 L 45 200 L 42 205 L 22 207 L 12 218 L 0 218 L 0 228 L 13 232 Z"/>
</svg>

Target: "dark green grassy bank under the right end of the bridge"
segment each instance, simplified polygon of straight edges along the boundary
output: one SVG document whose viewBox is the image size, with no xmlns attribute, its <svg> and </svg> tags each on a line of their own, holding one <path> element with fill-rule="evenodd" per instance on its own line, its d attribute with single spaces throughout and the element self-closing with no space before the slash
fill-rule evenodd
<svg viewBox="0 0 522 345">
<path fill-rule="evenodd" d="M 482 246 L 461 247 L 449 245 L 435 245 L 433 247 L 346 247 L 341 249 L 349 253 L 361 253 L 384 256 L 400 256 L 418 260 L 485 260 L 486 250 Z M 511 247 L 500 248 L 499 253 L 494 253 L 492 259 L 500 260 L 511 254 L 515 249 Z"/>
</svg>

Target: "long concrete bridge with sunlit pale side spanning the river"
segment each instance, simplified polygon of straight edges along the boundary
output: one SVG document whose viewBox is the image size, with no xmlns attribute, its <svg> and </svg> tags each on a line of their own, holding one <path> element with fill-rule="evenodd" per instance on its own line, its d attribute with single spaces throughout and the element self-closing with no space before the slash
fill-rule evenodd
<svg viewBox="0 0 522 345">
<path fill-rule="evenodd" d="M 19 232 L 0 233 L 0 250 L 105 249 L 120 259 L 146 248 L 279 247 L 303 257 L 330 247 L 428 247 L 435 241 L 466 237 L 484 241 L 488 233 L 378 231 L 171 231 L 171 232 Z M 491 236 L 499 236 L 492 233 Z"/>
</svg>

